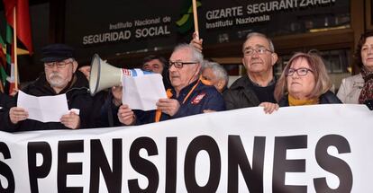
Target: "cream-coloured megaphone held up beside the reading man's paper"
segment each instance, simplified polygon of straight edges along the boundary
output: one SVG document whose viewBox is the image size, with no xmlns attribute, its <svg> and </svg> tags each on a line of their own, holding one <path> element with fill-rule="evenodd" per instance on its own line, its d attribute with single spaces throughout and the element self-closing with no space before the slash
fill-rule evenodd
<svg viewBox="0 0 373 193">
<path fill-rule="evenodd" d="M 122 84 L 123 69 L 111 66 L 97 54 L 91 62 L 91 75 L 89 77 L 89 92 L 95 95 L 104 89 Z"/>
</svg>

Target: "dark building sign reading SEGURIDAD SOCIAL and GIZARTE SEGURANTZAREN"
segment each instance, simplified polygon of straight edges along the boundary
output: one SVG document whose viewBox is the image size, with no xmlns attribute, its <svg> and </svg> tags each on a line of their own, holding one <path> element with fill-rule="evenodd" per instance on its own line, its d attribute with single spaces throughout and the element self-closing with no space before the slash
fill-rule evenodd
<svg viewBox="0 0 373 193">
<path fill-rule="evenodd" d="M 200 0 L 205 44 L 238 41 L 250 31 L 268 36 L 350 27 L 349 0 Z M 81 9 L 81 7 L 86 7 Z M 170 49 L 189 42 L 191 0 L 67 1 L 65 39 L 79 57 Z"/>
</svg>

